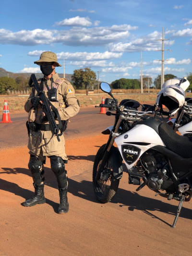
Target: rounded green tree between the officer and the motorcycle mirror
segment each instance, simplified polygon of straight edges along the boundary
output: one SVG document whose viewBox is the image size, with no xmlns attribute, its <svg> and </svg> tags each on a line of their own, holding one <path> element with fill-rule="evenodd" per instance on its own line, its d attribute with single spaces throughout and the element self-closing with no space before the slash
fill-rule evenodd
<svg viewBox="0 0 192 256">
<path fill-rule="evenodd" d="M 95 85 L 96 73 L 90 68 L 76 69 L 73 72 L 72 81 L 77 89 L 85 89 L 88 95 L 89 88 Z"/>
</svg>

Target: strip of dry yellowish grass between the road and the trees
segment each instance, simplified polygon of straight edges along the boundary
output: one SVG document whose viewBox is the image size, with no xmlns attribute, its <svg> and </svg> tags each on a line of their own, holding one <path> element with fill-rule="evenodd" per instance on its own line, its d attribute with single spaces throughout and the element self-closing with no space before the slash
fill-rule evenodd
<svg viewBox="0 0 192 256">
<path fill-rule="evenodd" d="M 108 95 L 77 95 L 81 107 L 94 106 L 101 103 L 102 97 L 110 98 Z M 185 97 L 192 97 L 192 93 L 186 93 Z M 134 99 L 140 103 L 155 104 L 156 94 L 129 94 L 129 95 L 115 95 L 118 102 L 122 99 Z M 0 111 L 3 110 L 4 100 L 7 99 L 9 110 L 12 112 L 24 110 L 24 104 L 27 97 L 0 97 Z"/>
</svg>

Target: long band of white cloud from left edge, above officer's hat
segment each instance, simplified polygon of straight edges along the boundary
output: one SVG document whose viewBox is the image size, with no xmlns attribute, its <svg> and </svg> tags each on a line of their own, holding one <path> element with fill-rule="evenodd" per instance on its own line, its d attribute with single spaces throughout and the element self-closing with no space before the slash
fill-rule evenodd
<svg viewBox="0 0 192 256">
<path fill-rule="evenodd" d="M 128 28 L 136 29 L 136 27 L 125 24 L 111 27 L 72 27 L 66 30 L 34 29 L 18 32 L 0 29 L 0 43 L 28 46 L 55 43 L 69 46 L 102 46 L 129 37 Z"/>
</svg>

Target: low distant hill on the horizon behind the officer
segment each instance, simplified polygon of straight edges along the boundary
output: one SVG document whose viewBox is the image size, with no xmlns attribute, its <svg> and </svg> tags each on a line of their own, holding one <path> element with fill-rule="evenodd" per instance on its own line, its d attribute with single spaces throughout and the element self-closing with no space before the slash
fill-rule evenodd
<svg viewBox="0 0 192 256">
<path fill-rule="evenodd" d="M 32 73 L 12 73 L 12 72 L 9 72 L 9 71 L 6 71 L 5 69 L 3 68 L 0 68 L 0 77 L 2 76 L 7 76 L 7 73 L 9 74 L 9 77 L 12 77 L 12 78 L 16 78 L 18 76 L 24 76 L 25 78 L 27 77 L 30 77 Z M 63 74 L 62 73 L 58 73 L 60 77 L 63 77 Z M 40 77 L 43 77 L 43 74 L 42 73 L 35 73 L 36 75 L 36 78 L 40 78 Z M 72 74 L 65 74 L 65 78 L 71 82 L 72 81 Z"/>
</svg>

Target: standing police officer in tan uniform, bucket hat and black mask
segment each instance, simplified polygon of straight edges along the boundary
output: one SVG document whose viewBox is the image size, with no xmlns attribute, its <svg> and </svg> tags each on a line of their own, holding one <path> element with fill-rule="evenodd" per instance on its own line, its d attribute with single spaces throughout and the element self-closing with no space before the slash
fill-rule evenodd
<svg viewBox="0 0 192 256">
<path fill-rule="evenodd" d="M 58 73 L 55 72 L 55 67 L 61 66 L 58 63 L 57 55 L 53 52 L 45 51 L 41 54 L 40 60 L 34 63 L 40 66 L 41 72 L 44 74 L 43 78 L 38 79 L 41 90 L 45 92 L 46 97 L 58 109 L 62 124 L 66 124 L 67 120 L 75 116 L 80 108 L 70 82 L 64 78 L 60 78 Z M 50 91 L 51 88 L 55 89 Z M 55 92 L 55 98 L 50 93 L 53 91 Z M 54 98 L 53 101 L 52 98 Z M 44 196 L 44 164 L 46 157 L 48 157 L 50 158 L 51 170 L 54 172 L 58 182 L 60 194 L 58 212 L 63 214 L 69 210 L 67 199 L 68 181 L 65 170 L 65 164 L 68 160 L 65 154 L 65 141 L 64 136 L 60 136 L 60 142 L 54 136 L 48 119 L 42 112 L 41 103 L 33 87 L 32 93 L 24 105 L 24 110 L 29 113 L 28 122 L 30 133 L 28 148 L 30 150 L 30 159 L 28 168 L 33 177 L 35 195 L 23 204 L 26 207 L 31 207 L 46 202 Z M 59 127 L 58 118 L 55 117 L 55 120 Z"/>
</svg>

